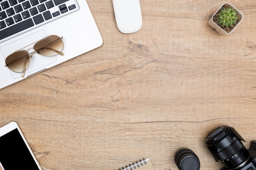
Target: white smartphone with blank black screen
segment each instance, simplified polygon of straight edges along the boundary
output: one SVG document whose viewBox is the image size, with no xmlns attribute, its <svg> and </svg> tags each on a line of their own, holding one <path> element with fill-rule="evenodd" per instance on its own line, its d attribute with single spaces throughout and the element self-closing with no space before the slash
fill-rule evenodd
<svg viewBox="0 0 256 170">
<path fill-rule="evenodd" d="M 15 121 L 0 128 L 0 166 L 3 170 L 42 170 Z"/>
</svg>

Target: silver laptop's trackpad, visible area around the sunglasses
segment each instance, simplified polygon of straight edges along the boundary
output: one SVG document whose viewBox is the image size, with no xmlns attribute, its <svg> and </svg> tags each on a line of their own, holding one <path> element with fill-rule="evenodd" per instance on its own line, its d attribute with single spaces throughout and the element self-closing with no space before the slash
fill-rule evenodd
<svg viewBox="0 0 256 170">
<path fill-rule="evenodd" d="M 46 36 L 47 35 L 46 35 L 45 31 L 40 30 L 40 31 L 33 33 L 31 35 L 28 35 L 24 38 L 21 38 L 19 40 L 11 42 L 10 44 L 2 46 L 0 48 L 0 50 L 4 56 L 4 60 L 9 54 L 13 53 L 14 51 L 17 51 L 20 49 L 28 50 L 28 49 L 32 48 L 34 46 L 34 43 L 36 43 L 38 40 L 40 40 L 42 38 L 45 38 Z M 31 44 L 31 45 L 29 45 L 29 44 Z M 34 52 L 34 49 L 29 50 L 29 53 L 32 53 L 32 52 Z M 40 70 L 47 68 L 47 65 L 52 64 L 56 61 L 57 61 L 56 56 L 45 57 L 43 55 L 38 55 L 35 53 L 31 58 L 29 68 L 25 72 L 25 77 L 29 76 L 31 73 L 34 73 L 35 71 L 40 72 Z M 15 73 L 11 70 L 10 70 L 10 72 L 11 72 L 13 79 L 16 79 L 21 76 L 21 73 Z"/>
</svg>

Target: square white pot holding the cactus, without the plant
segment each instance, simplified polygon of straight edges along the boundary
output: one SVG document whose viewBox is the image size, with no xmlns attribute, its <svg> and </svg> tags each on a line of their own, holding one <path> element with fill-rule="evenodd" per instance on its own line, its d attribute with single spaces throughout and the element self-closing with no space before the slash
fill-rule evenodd
<svg viewBox="0 0 256 170">
<path fill-rule="evenodd" d="M 223 6 L 223 5 L 225 5 L 225 4 L 229 4 L 230 5 L 230 7 L 232 7 L 232 8 L 234 8 L 234 9 L 236 9 L 233 5 L 231 5 L 230 3 L 228 3 L 228 2 L 225 2 L 224 4 L 222 4 L 221 6 L 220 6 L 220 8 L 216 11 L 216 13 L 218 13 L 218 11 L 221 9 L 221 7 Z M 241 20 L 236 24 L 236 26 L 233 28 L 233 29 L 231 29 L 231 31 L 229 32 L 229 33 L 227 33 L 226 31 L 224 31 L 220 26 L 218 26 L 215 22 L 213 22 L 213 17 L 216 15 L 216 13 L 214 13 L 214 15 L 211 17 L 211 19 L 208 21 L 208 24 L 211 26 L 211 27 L 213 27 L 218 33 L 220 33 L 220 34 L 230 34 L 230 33 L 232 33 L 235 29 L 236 29 L 236 27 L 238 26 L 238 24 L 240 24 L 240 22 L 243 20 L 243 18 L 244 18 L 244 15 L 243 15 L 243 13 L 241 13 L 240 11 L 238 11 L 238 9 L 236 9 L 236 11 L 241 15 Z"/>
</svg>

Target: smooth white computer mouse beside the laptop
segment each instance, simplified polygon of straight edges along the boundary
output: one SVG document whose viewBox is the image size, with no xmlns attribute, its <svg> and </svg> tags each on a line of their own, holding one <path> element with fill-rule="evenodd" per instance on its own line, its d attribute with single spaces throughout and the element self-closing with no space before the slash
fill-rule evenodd
<svg viewBox="0 0 256 170">
<path fill-rule="evenodd" d="M 142 26 L 139 0 L 112 0 L 117 27 L 122 33 L 134 33 Z"/>
</svg>

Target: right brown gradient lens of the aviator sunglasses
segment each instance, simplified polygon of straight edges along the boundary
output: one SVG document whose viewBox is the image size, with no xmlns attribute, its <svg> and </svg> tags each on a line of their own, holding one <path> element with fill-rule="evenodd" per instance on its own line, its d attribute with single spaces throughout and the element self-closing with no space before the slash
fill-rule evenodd
<svg viewBox="0 0 256 170">
<path fill-rule="evenodd" d="M 63 48 L 63 41 L 57 35 L 45 37 L 34 45 L 34 50 L 36 53 L 47 57 L 58 55 L 61 53 Z"/>
</svg>

